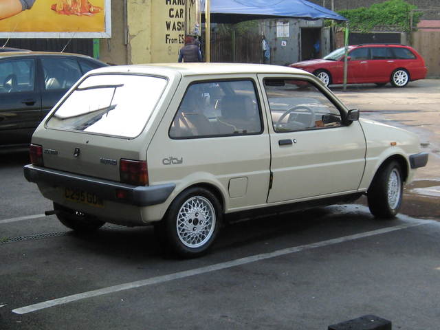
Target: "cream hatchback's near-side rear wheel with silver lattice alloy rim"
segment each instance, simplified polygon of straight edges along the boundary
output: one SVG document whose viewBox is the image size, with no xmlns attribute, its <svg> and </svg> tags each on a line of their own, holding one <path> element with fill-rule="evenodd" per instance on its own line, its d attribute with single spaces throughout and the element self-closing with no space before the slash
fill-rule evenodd
<svg viewBox="0 0 440 330">
<path fill-rule="evenodd" d="M 189 188 L 171 203 L 164 219 L 155 225 L 159 241 L 177 256 L 194 258 L 206 253 L 216 238 L 221 220 L 217 197 L 205 188 Z"/>
</svg>

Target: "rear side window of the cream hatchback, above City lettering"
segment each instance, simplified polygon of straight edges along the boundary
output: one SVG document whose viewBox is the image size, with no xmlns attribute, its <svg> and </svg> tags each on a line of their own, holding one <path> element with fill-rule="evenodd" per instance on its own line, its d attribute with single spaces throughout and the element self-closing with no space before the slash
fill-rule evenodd
<svg viewBox="0 0 440 330">
<path fill-rule="evenodd" d="M 252 80 L 210 81 L 188 87 L 170 125 L 170 137 L 247 135 L 262 132 Z"/>
</svg>

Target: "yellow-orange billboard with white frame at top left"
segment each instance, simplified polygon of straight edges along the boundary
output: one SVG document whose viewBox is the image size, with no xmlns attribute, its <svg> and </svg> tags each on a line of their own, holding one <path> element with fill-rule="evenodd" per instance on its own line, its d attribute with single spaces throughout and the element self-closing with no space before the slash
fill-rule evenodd
<svg viewBox="0 0 440 330">
<path fill-rule="evenodd" d="M 110 38 L 111 0 L 0 0 L 0 38 Z"/>
</svg>

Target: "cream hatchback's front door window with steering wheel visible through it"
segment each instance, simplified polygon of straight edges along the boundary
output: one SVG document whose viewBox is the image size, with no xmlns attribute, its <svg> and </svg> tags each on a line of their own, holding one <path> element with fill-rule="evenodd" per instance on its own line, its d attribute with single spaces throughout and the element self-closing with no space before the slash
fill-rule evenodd
<svg viewBox="0 0 440 330">
<path fill-rule="evenodd" d="M 342 125 L 339 109 L 308 81 L 268 78 L 264 85 L 277 133 Z"/>
</svg>

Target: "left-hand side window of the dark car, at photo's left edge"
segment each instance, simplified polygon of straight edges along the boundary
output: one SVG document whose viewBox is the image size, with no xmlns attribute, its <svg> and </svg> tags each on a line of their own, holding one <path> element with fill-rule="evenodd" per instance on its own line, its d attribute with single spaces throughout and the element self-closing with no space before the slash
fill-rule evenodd
<svg viewBox="0 0 440 330">
<path fill-rule="evenodd" d="M 0 94 L 33 91 L 34 81 L 34 60 L 23 59 L 0 63 Z"/>
</svg>

